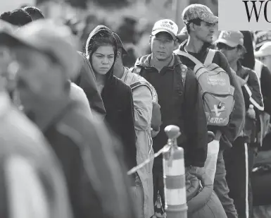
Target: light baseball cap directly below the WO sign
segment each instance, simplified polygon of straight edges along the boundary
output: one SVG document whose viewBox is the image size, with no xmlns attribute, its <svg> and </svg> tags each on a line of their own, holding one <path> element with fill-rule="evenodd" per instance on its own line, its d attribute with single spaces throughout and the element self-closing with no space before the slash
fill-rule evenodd
<svg viewBox="0 0 271 218">
<path fill-rule="evenodd" d="M 221 31 L 215 43 L 224 43 L 229 47 L 244 45 L 244 35 L 240 31 Z"/>
</svg>

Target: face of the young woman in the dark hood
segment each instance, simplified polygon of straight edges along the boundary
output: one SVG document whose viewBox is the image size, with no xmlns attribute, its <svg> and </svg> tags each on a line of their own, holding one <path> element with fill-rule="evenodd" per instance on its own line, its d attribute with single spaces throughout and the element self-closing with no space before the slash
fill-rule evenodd
<svg viewBox="0 0 271 218">
<path fill-rule="evenodd" d="M 112 45 L 100 46 L 92 54 L 92 68 L 100 75 L 106 75 L 114 63 L 114 49 Z"/>
</svg>

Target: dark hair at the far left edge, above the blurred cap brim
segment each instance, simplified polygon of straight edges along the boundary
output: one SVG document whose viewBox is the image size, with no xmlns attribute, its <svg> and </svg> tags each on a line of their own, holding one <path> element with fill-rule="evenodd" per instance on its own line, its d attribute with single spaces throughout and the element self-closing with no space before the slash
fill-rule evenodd
<svg viewBox="0 0 271 218">
<path fill-rule="evenodd" d="M 0 19 L 19 27 L 32 22 L 31 16 L 23 9 L 4 12 L 1 14 Z"/>
</svg>

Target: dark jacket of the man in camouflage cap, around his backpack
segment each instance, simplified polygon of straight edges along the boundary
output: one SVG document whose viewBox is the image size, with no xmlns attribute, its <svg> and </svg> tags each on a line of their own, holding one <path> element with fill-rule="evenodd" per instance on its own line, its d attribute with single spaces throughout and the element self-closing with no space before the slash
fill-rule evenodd
<svg viewBox="0 0 271 218">
<path fill-rule="evenodd" d="M 187 44 L 187 40 L 184 41 L 179 49 L 184 51 L 184 46 Z M 203 45 L 203 48 L 200 52 L 196 53 L 190 53 L 196 59 L 204 63 L 206 56 L 208 54 L 208 46 Z M 185 56 L 179 56 L 182 63 L 187 65 L 187 67 L 194 69 L 195 63 L 188 59 Z M 226 127 L 218 128 L 217 126 L 208 126 L 208 131 L 216 132 L 218 129 L 222 132 L 222 136 L 220 138 L 220 145 L 224 147 L 232 147 L 232 143 L 237 138 L 239 133 L 241 132 L 241 129 L 243 128 L 244 124 L 244 118 L 245 118 L 245 111 L 244 111 L 244 97 L 241 91 L 241 86 L 237 82 L 237 79 L 232 75 L 232 70 L 229 66 L 229 63 L 221 52 L 217 51 L 215 53 L 215 56 L 213 58 L 213 63 L 218 64 L 221 68 L 223 68 L 228 74 L 229 74 L 229 80 L 231 85 L 235 88 L 234 91 L 234 109 L 232 111 L 232 114 L 229 117 L 229 123 Z M 221 146 L 220 146 L 221 147 Z"/>
</svg>

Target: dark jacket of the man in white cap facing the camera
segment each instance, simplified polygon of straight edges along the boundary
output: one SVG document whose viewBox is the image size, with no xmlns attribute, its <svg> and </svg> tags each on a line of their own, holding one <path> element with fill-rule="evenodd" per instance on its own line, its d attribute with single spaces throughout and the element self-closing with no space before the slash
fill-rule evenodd
<svg viewBox="0 0 271 218">
<path fill-rule="evenodd" d="M 135 67 L 141 68 L 140 75 L 156 89 L 160 104 L 163 124 L 158 135 L 153 138 L 153 150 L 157 152 L 167 143 L 165 126 L 177 125 L 182 133 L 177 143 L 184 148 L 186 165 L 204 166 L 207 155 L 207 125 L 196 76 L 175 54 L 172 55 L 170 65 L 165 66 L 160 73 L 150 66 L 150 59 L 151 54 L 141 57 Z M 184 78 L 182 70 L 186 70 Z"/>
</svg>

